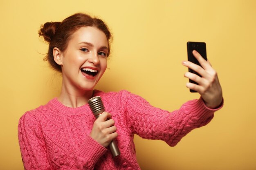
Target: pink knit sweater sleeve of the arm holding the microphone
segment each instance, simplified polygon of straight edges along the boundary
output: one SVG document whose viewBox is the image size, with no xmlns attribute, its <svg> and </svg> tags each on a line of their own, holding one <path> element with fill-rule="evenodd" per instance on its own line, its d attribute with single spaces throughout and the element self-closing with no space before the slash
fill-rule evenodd
<svg viewBox="0 0 256 170">
<path fill-rule="evenodd" d="M 68 153 L 65 162 L 56 165 L 47 156 L 42 131 L 30 112 L 19 120 L 18 139 L 25 170 L 92 170 L 107 150 L 88 136 L 84 144 Z"/>
</svg>

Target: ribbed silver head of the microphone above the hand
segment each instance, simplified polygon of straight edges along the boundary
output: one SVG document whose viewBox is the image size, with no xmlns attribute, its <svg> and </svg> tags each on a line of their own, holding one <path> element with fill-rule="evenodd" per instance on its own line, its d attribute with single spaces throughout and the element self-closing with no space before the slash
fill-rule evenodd
<svg viewBox="0 0 256 170">
<path fill-rule="evenodd" d="M 89 104 L 94 116 L 98 116 L 102 112 L 105 111 L 104 105 L 101 101 L 101 97 L 99 97 L 99 96 L 92 97 L 91 99 L 89 99 L 88 104 Z"/>
</svg>

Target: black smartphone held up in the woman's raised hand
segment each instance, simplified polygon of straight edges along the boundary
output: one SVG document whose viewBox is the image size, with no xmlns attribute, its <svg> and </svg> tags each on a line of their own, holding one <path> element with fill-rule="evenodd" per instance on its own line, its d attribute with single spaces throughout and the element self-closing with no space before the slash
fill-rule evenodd
<svg viewBox="0 0 256 170">
<path fill-rule="evenodd" d="M 187 42 L 186 43 L 187 46 L 187 52 L 188 52 L 188 60 L 190 62 L 193 62 L 195 64 L 198 64 L 199 66 L 201 66 L 198 62 L 198 60 L 196 60 L 196 58 L 194 57 L 192 51 L 195 50 L 198 53 L 200 53 L 200 55 L 204 58 L 204 60 L 207 60 L 207 56 L 206 56 L 206 44 L 205 42 Z M 192 69 L 189 68 L 189 72 L 194 73 L 199 75 L 200 77 L 202 77 L 200 74 L 198 74 L 197 72 L 193 71 Z M 193 80 L 189 79 L 189 82 L 194 83 L 194 84 L 198 84 L 196 82 L 194 82 Z M 195 93 L 197 91 L 191 90 L 190 92 Z"/>
</svg>

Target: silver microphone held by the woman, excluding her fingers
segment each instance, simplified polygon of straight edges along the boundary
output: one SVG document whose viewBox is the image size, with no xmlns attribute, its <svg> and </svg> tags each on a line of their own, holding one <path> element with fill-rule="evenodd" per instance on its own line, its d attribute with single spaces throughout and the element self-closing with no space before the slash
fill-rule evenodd
<svg viewBox="0 0 256 170">
<path fill-rule="evenodd" d="M 89 99 L 88 104 L 92 110 L 93 115 L 96 117 L 96 119 L 105 111 L 105 108 L 103 106 L 103 103 L 101 101 L 101 97 L 96 96 Z M 113 139 L 109 144 L 110 151 L 113 155 L 113 157 L 116 157 L 120 155 L 119 148 L 117 146 L 116 139 Z"/>
</svg>

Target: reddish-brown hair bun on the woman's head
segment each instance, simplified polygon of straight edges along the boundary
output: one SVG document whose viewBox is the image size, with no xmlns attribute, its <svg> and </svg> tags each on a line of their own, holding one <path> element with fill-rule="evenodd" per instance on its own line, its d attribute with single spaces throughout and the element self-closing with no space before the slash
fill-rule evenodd
<svg viewBox="0 0 256 170">
<path fill-rule="evenodd" d="M 41 25 L 41 29 L 38 31 L 39 36 L 43 36 L 45 41 L 51 42 L 56 30 L 61 25 L 61 22 L 46 22 Z"/>
</svg>

